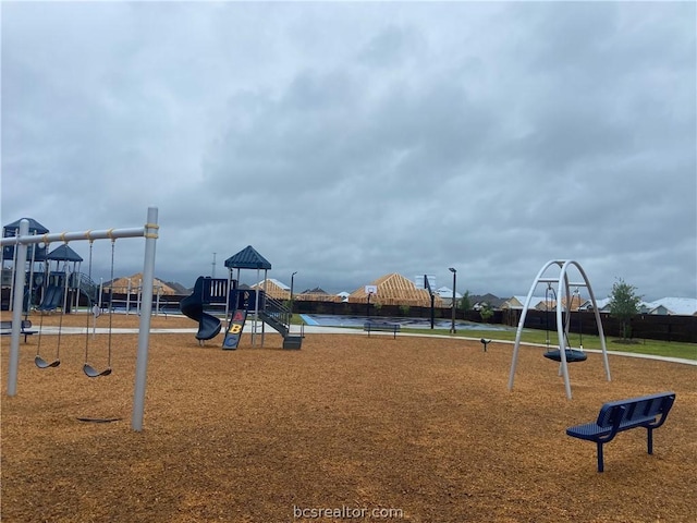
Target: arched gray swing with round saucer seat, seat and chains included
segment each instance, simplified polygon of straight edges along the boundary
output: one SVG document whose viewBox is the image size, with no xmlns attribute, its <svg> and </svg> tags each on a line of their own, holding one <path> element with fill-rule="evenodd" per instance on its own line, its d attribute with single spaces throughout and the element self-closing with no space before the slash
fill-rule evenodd
<svg viewBox="0 0 697 523">
<path fill-rule="evenodd" d="M 550 267 L 558 267 L 560 269 L 558 277 L 545 277 L 545 273 L 548 271 Z M 575 267 L 583 281 L 570 282 L 568 280 L 568 269 L 571 267 Z M 559 362 L 559 374 L 564 377 L 564 388 L 566 391 L 566 398 L 572 399 L 571 393 L 571 381 L 568 377 L 568 363 L 574 362 L 583 362 L 586 360 L 586 354 L 583 352 L 583 345 L 579 342 L 578 349 L 573 349 L 568 341 L 568 331 L 571 327 L 571 305 L 573 303 L 573 295 L 571 292 L 571 288 L 578 289 L 579 287 L 584 287 L 588 290 L 588 294 L 590 296 L 590 301 L 592 303 L 592 308 L 596 316 L 596 324 L 598 326 L 598 335 L 600 337 L 600 345 L 602 348 L 602 361 L 606 369 L 606 377 L 608 381 L 610 378 L 610 364 L 608 363 L 608 351 L 606 349 L 606 338 L 604 332 L 602 330 L 602 323 L 600 320 L 600 314 L 598 311 L 598 304 L 596 302 L 596 296 L 592 293 L 592 289 L 590 288 L 590 282 L 586 276 L 586 272 L 580 267 L 577 262 L 572 259 L 567 260 L 550 260 L 542 266 L 540 271 L 535 277 L 533 284 L 530 285 L 530 291 L 527 294 L 525 300 L 525 304 L 523 305 L 523 312 L 521 314 L 521 319 L 518 321 L 517 331 L 515 333 L 515 344 L 513 346 L 513 361 L 511 362 L 511 374 L 509 377 L 509 390 L 513 390 L 513 381 L 515 379 L 515 367 L 518 357 L 518 350 L 521 348 L 521 336 L 523 335 L 523 328 L 525 327 L 525 317 L 527 315 L 527 311 L 530 307 L 530 302 L 533 300 L 533 295 L 535 294 L 535 289 L 539 283 L 547 284 L 548 292 L 546 293 L 546 300 L 549 300 L 550 294 L 554 296 L 553 307 L 555 312 L 557 319 L 557 336 L 559 340 L 559 345 L 555 350 L 550 350 L 549 340 L 547 352 L 545 353 L 545 357 Z M 557 291 L 553 291 L 553 284 L 557 284 Z M 577 292 L 577 291 L 575 291 Z M 552 302 L 547 301 L 546 306 L 550 307 Z M 548 333 L 549 336 L 549 333 Z"/>
</svg>

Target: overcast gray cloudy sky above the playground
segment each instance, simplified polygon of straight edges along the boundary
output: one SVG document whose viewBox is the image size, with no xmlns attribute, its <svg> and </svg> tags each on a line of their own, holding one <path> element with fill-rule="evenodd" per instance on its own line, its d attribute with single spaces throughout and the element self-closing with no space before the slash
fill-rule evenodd
<svg viewBox="0 0 697 523">
<path fill-rule="evenodd" d="M 253 245 L 296 290 L 455 267 L 508 297 L 575 259 L 597 297 L 697 295 L 694 2 L 3 1 L 1 24 L 2 224 L 156 206 L 156 275 L 185 285 Z"/>
</svg>

